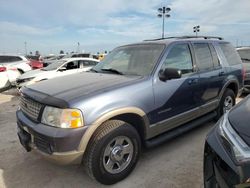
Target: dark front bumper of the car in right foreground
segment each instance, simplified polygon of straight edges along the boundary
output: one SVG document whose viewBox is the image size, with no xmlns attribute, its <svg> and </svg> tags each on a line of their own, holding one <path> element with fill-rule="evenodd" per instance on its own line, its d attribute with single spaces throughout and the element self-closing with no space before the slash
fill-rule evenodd
<svg viewBox="0 0 250 188">
<path fill-rule="evenodd" d="M 204 185 L 216 179 L 220 187 L 250 187 L 250 162 L 237 164 L 218 134 L 219 126 L 208 134 L 204 149 Z"/>
</svg>

